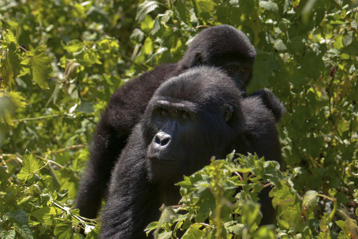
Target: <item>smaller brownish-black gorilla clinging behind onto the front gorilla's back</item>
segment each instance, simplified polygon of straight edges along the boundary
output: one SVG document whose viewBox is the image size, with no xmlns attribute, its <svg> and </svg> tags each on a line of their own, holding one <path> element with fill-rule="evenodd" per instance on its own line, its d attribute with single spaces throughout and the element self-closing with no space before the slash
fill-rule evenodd
<svg viewBox="0 0 358 239">
<path fill-rule="evenodd" d="M 256 51 L 243 32 L 229 25 L 201 31 L 178 63 L 168 63 L 126 83 L 113 93 L 97 124 L 91 157 L 78 190 L 76 207 L 86 218 L 95 218 L 106 192 L 110 172 L 143 114 L 148 101 L 161 83 L 197 65 L 222 67 L 245 91 L 252 78 Z M 256 94 L 256 93 L 255 93 Z"/>
</svg>

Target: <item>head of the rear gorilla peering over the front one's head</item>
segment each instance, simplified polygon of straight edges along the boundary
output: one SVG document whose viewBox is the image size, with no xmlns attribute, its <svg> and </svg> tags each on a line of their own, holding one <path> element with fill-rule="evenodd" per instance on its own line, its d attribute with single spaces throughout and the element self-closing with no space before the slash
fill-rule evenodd
<svg viewBox="0 0 358 239">
<path fill-rule="evenodd" d="M 245 91 L 252 78 L 255 57 L 255 48 L 242 31 L 229 25 L 218 25 L 201 31 L 178 63 L 188 68 L 199 65 L 222 67 Z"/>
</svg>

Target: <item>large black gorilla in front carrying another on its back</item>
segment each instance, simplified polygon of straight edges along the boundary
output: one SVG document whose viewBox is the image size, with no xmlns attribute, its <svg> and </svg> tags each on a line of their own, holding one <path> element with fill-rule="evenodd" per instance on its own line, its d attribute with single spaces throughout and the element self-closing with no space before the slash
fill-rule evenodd
<svg viewBox="0 0 358 239">
<path fill-rule="evenodd" d="M 161 204 L 180 200 L 174 183 L 209 164 L 256 152 L 281 161 L 276 118 L 262 97 L 242 98 L 224 71 L 195 67 L 165 81 L 149 101 L 112 172 L 102 213 L 101 238 L 146 238 Z M 270 93 L 271 92 L 266 92 Z M 272 94 L 271 101 L 279 100 Z M 282 112 L 284 107 L 278 103 Z M 268 193 L 261 195 L 263 220 L 275 221 Z"/>
</svg>

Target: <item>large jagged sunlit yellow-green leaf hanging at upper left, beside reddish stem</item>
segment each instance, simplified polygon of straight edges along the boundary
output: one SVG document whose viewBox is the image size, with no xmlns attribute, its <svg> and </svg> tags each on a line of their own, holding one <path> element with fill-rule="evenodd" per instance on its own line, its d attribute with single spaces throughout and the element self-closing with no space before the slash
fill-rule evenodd
<svg viewBox="0 0 358 239">
<path fill-rule="evenodd" d="M 21 64 L 30 67 L 30 76 L 35 83 L 43 89 L 48 89 L 47 80 L 48 74 L 52 72 L 51 62 L 53 58 L 45 55 L 45 46 L 38 46 L 36 49 L 33 49 L 30 45 L 29 48 L 29 53 L 25 54 L 27 58 Z"/>
</svg>

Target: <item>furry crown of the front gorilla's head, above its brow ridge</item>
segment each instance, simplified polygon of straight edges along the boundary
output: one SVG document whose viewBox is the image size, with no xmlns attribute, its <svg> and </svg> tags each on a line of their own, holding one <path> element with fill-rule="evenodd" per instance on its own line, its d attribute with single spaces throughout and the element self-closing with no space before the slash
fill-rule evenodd
<svg viewBox="0 0 358 239">
<path fill-rule="evenodd" d="M 241 92 L 235 82 L 223 70 L 201 66 L 165 81 L 155 92 L 152 103 L 166 100 L 194 102 L 199 106 L 208 103 L 222 106 L 226 102 L 237 105 L 240 97 Z"/>
</svg>

